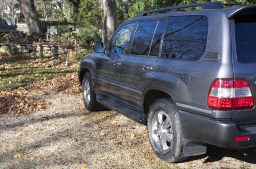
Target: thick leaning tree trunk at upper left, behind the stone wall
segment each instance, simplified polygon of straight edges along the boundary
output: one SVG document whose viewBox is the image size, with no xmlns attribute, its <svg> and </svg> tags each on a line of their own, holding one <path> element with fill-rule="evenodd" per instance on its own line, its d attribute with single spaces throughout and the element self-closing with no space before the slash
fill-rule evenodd
<svg viewBox="0 0 256 169">
<path fill-rule="evenodd" d="M 31 0 L 18 0 L 18 2 L 20 12 L 22 12 L 27 21 L 29 32 L 38 38 L 40 34 L 42 34 L 42 29 L 35 11 L 34 4 L 31 3 Z"/>
</svg>

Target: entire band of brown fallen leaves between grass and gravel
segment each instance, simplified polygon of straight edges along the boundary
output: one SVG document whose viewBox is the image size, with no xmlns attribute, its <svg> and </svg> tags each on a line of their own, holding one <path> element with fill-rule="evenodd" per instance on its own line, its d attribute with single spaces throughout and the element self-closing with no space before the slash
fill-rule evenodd
<svg viewBox="0 0 256 169">
<path fill-rule="evenodd" d="M 31 114 L 46 108 L 49 103 L 29 96 L 31 91 L 57 91 L 65 94 L 80 94 L 77 73 L 68 73 L 47 80 L 39 80 L 25 88 L 6 90 L 0 93 L 0 114 Z"/>
</svg>

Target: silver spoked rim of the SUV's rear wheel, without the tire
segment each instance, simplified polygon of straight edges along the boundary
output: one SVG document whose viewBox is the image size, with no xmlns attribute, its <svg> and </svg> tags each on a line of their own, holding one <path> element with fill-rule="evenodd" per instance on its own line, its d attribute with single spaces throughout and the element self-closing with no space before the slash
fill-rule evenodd
<svg viewBox="0 0 256 169">
<path fill-rule="evenodd" d="M 173 144 L 173 129 L 168 115 L 164 111 L 158 111 L 152 121 L 152 136 L 156 146 L 166 151 Z"/>
</svg>

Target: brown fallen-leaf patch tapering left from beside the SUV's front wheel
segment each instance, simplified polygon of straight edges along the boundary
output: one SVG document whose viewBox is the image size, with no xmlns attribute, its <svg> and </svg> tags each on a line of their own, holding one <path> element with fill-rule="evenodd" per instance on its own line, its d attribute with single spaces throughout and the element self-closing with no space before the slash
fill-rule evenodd
<svg viewBox="0 0 256 169">
<path fill-rule="evenodd" d="M 55 76 L 51 79 L 40 80 L 32 83 L 27 89 L 41 91 L 57 91 L 65 94 L 76 95 L 81 93 L 77 73 L 68 73 L 63 76 Z"/>
</svg>

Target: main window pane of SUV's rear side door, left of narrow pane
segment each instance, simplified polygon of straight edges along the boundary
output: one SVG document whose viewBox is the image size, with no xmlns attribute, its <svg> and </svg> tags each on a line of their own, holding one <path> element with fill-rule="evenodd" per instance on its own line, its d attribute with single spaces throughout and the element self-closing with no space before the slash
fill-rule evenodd
<svg viewBox="0 0 256 169">
<path fill-rule="evenodd" d="M 131 54 L 148 55 L 157 22 L 156 20 L 139 22 Z"/>
</svg>

